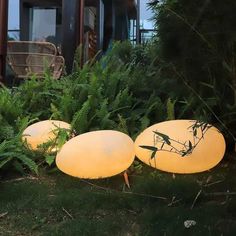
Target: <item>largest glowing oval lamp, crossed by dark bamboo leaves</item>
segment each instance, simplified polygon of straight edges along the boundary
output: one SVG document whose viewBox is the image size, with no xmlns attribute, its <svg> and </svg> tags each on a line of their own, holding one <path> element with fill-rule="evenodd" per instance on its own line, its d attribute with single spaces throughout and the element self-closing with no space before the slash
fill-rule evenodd
<svg viewBox="0 0 236 236">
<path fill-rule="evenodd" d="M 211 169 L 223 158 L 225 140 L 215 127 L 196 120 L 171 120 L 144 130 L 136 156 L 156 169 L 190 174 Z"/>
</svg>

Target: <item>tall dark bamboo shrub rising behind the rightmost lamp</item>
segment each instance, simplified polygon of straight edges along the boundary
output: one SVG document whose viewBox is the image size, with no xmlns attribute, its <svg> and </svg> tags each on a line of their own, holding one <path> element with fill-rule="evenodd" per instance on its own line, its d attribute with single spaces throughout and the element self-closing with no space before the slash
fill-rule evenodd
<svg viewBox="0 0 236 236">
<path fill-rule="evenodd" d="M 213 123 L 234 144 L 236 2 L 154 0 L 150 7 L 160 77 L 174 88 L 176 117 Z"/>
</svg>

